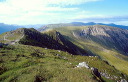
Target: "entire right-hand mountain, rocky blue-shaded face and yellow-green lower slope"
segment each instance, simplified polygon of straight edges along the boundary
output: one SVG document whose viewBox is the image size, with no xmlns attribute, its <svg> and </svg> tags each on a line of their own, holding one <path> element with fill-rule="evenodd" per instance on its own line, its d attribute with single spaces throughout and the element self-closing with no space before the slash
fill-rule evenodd
<svg viewBox="0 0 128 82">
<path fill-rule="evenodd" d="M 56 28 L 67 39 L 128 74 L 128 31 L 104 25 Z"/>
</svg>

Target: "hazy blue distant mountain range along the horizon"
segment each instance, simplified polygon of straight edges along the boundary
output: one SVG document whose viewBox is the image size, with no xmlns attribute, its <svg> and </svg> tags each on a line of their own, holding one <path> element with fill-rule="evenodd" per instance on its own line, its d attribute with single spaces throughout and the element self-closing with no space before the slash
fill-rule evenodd
<svg viewBox="0 0 128 82">
<path fill-rule="evenodd" d="M 72 22 L 72 23 L 60 23 L 60 24 L 48 24 L 48 25 L 43 25 L 43 24 L 9 25 L 9 24 L 0 23 L 0 34 L 7 32 L 7 31 L 16 30 L 17 28 L 22 28 L 22 27 L 35 28 L 35 29 L 38 29 L 38 31 L 43 31 L 48 28 L 58 28 L 58 27 L 67 27 L 67 26 L 88 26 L 88 25 L 107 25 L 107 26 L 118 27 L 118 28 L 122 28 L 122 29 L 128 29 L 128 26 L 124 26 L 124 25 L 116 25 L 113 23 L 104 24 L 104 23 L 94 23 L 94 22 L 88 22 L 88 23 Z"/>
</svg>

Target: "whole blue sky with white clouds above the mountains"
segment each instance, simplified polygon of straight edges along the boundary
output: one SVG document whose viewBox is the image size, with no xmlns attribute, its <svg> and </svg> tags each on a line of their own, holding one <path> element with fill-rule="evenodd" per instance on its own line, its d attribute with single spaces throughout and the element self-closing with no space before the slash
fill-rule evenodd
<svg viewBox="0 0 128 82">
<path fill-rule="evenodd" d="M 0 23 L 115 23 L 128 26 L 128 0 L 0 0 Z"/>
</svg>

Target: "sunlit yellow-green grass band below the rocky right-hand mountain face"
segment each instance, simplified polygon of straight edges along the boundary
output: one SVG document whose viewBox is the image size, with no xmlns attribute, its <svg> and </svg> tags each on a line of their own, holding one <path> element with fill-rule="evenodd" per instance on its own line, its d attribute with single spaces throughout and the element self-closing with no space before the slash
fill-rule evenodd
<svg viewBox="0 0 128 82">
<path fill-rule="evenodd" d="M 111 65 L 115 66 L 118 70 L 126 73 L 128 75 L 128 57 L 119 54 L 115 50 L 108 50 L 100 46 L 99 44 L 87 41 L 82 38 L 74 37 L 72 32 L 76 30 L 81 30 L 86 28 L 83 27 L 63 27 L 63 28 L 56 28 L 57 31 L 61 32 L 62 34 L 68 36 L 69 40 L 71 40 L 74 44 L 78 45 L 79 47 L 91 51 L 91 53 L 99 55 L 102 59 L 107 60 Z M 63 30 L 62 30 L 63 29 Z"/>
</svg>

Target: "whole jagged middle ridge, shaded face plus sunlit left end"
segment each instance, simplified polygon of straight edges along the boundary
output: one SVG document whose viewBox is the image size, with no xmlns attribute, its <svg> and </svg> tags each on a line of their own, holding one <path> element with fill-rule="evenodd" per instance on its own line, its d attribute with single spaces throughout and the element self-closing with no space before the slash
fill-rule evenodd
<svg viewBox="0 0 128 82">
<path fill-rule="evenodd" d="M 1 42 L 6 44 L 20 43 L 25 45 L 67 51 L 75 55 L 87 55 L 85 50 L 77 47 L 55 30 L 40 33 L 33 28 L 20 28 L 15 31 L 0 35 L 0 38 Z"/>
</svg>

